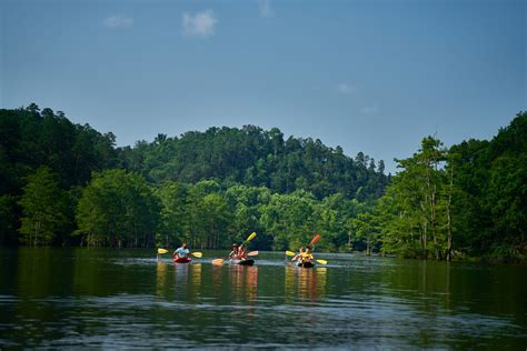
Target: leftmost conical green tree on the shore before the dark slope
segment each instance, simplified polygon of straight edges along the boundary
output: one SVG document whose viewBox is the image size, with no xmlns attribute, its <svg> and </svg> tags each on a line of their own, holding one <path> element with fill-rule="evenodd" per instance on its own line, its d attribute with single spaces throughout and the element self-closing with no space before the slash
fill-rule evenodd
<svg viewBox="0 0 527 351">
<path fill-rule="evenodd" d="M 58 177 L 48 167 L 40 167 L 27 178 L 23 194 L 18 202 L 22 209 L 20 241 L 32 244 L 50 244 L 68 229 L 68 195 Z"/>
</svg>

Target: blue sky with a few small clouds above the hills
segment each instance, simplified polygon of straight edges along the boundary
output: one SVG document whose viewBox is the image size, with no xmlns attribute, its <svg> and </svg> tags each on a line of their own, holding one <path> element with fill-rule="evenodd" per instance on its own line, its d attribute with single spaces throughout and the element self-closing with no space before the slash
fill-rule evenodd
<svg viewBox="0 0 527 351">
<path fill-rule="evenodd" d="M 118 146 L 278 127 L 355 157 L 490 139 L 527 110 L 524 0 L 1 0 L 0 107 Z"/>
</svg>

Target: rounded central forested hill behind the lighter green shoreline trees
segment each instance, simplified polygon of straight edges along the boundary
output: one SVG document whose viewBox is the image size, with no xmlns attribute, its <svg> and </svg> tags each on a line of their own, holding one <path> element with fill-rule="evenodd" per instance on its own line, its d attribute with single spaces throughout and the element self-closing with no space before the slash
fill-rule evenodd
<svg viewBox="0 0 527 351">
<path fill-rule="evenodd" d="M 119 151 L 126 169 L 156 183 L 217 179 L 226 185 L 267 187 L 278 193 L 302 189 L 318 199 L 339 192 L 365 201 L 379 198 L 389 178 L 382 161 L 376 164 L 362 152 L 354 160 L 318 139 L 285 140 L 277 128 L 255 126 L 209 128 L 180 138 L 158 134 L 153 142 Z"/>
</svg>

